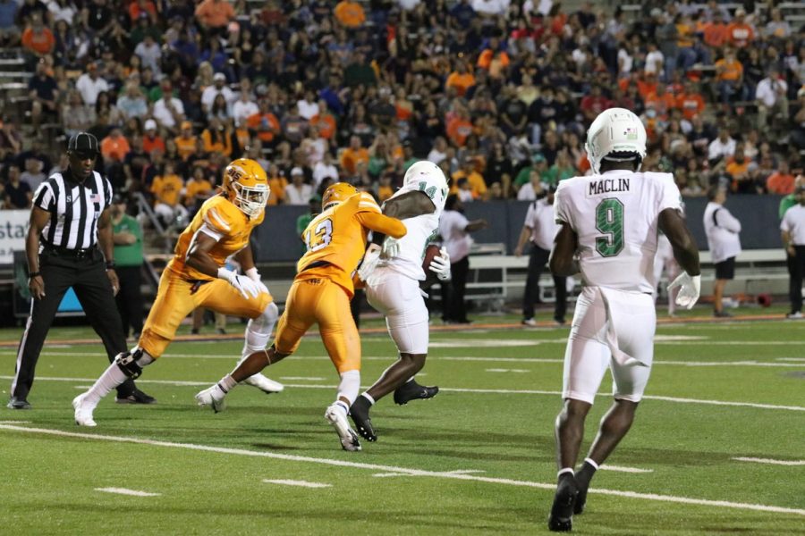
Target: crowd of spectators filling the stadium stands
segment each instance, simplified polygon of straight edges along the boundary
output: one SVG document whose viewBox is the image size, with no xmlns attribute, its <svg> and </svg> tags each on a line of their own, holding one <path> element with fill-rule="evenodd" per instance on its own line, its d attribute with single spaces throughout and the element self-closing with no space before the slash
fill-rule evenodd
<svg viewBox="0 0 805 536">
<path fill-rule="evenodd" d="M 4 110 L 2 205 L 30 206 L 66 165 L 43 140 L 80 130 L 114 188 L 165 218 L 242 155 L 269 204 L 336 179 L 383 200 L 417 158 L 463 201 L 533 199 L 589 170 L 582 140 L 612 106 L 640 115 L 643 169 L 683 195 L 790 194 L 805 28 L 750 4 L 648 2 L 627 20 L 550 0 L 0 0 L 0 45 L 34 72 L 24 115 Z"/>
</svg>

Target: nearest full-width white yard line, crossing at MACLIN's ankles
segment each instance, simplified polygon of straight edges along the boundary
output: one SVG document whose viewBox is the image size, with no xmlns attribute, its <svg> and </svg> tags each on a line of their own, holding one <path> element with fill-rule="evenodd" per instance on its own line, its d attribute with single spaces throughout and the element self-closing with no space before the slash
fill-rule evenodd
<svg viewBox="0 0 805 536">
<path fill-rule="evenodd" d="M 452 472 L 442 473 L 435 471 L 424 471 L 421 469 L 397 467 L 394 465 L 363 464 L 360 462 L 349 462 L 345 460 L 333 460 L 333 459 L 316 458 L 309 456 L 293 456 L 288 454 L 279 454 L 275 452 L 246 450 L 243 448 L 223 448 L 223 447 L 211 447 L 209 445 L 197 445 L 193 443 L 174 443 L 171 441 L 160 441 L 160 440 L 140 440 L 136 438 L 126 438 L 120 436 L 105 436 L 91 433 L 48 430 L 46 428 L 27 428 L 24 426 L 13 426 L 10 424 L 0 424 L 0 430 L 21 431 L 24 433 L 38 433 L 38 434 L 54 435 L 59 437 L 78 438 L 84 440 L 113 441 L 117 443 L 135 443 L 139 445 L 151 445 L 154 447 L 183 448 L 187 450 L 214 452 L 218 454 L 227 454 L 233 456 L 264 457 L 290 462 L 318 464 L 318 465 L 334 465 L 337 467 L 352 467 L 354 469 L 367 469 L 369 471 L 382 471 L 385 473 L 406 473 L 411 474 L 413 476 L 428 476 L 436 479 L 451 479 L 451 480 L 461 480 L 468 482 L 485 482 L 489 484 L 500 484 L 505 486 L 538 488 L 540 490 L 555 489 L 555 484 L 547 482 L 518 481 L 507 478 L 494 478 L 494 477 L 479 476 L 475 474 L 466 474 L 466 473 L 452 473 Z M 636 491 L 593 489 L 589 490 L 589 492 L 599 495 L 612 495 L 615 497 L 640 498 L 646 500 L 672 502 L 687 505 L 723 507 L 723 508 L 733 508 L 737 510 L 750 510 L 750 511 L 753 510 L 758 512 L 773 512 L 775 514 L 791 514 L 791 515 L 805 516 L 805 508 L 775 507 L 770 505 L 739 503 L 727 500 L 710 500 L 706 498 L 677 497 L 674 495 L 657 495 L 655 493 L 638 493 Z"/>
</svg>

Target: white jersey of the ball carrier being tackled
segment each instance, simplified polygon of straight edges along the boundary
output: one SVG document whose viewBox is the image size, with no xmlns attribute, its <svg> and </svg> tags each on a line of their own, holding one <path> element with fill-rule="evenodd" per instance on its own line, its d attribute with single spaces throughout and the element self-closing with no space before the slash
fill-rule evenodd
<svg viewBox="0 0 805 536">
<path fill-rule="evenodd" d="M 424 192 L 433 202 L 436 210 L 431 214 L 422 214 L 402 220 L 408 232 L 398 240 L 399 253 L 390 259 L 381 259 L 377 266 L 388 266 L 395 272 L 400 272 L 411 279 L 425 281 L 422 259 L 425 257 L 425 248 L 439 233 L 439 216 L 442 215 L 442 210 L 445 208 L 447 190 L 435 182 L 428 184 L 428 181 L 422 180 L 416 185 L 403 186 L 391 198 L 400 197 L 410 191 Z"/>
</svg>

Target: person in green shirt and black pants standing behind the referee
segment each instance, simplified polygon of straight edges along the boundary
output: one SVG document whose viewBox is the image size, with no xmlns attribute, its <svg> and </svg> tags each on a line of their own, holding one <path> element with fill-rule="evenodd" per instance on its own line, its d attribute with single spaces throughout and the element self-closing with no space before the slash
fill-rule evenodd
<svg viewBox="0 0 805 536">
<path fill-rule="evenodd" d="M 120 281 L 120 292 L 114 298 L 123 320 L 123 333 L 140 338 L 142 331 L 142 228 L 140 222 L 126 214 L 125 198 L 112 198 L 112 240 L 114 270 Z"/>
</svg>

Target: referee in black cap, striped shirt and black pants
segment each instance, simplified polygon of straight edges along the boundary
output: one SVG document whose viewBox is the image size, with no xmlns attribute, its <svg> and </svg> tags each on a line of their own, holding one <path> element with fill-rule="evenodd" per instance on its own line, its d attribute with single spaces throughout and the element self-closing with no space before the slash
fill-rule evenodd
<svg viewBox="0 0 805 536">
<path fill-rule="evenodd" d="M 30 230 L 25 241 L 28 287 L 33 299 L 17 352 L 8 402 L 11 409 L 30 409 L 28 394 L 39 352 L 64 293 L 70 287 L 103 340 L 109 361 L 126 351 L 120 314 L 114 306 L 119 284 L 112 256 L 109 214 L 112 186 L 100 173 L 93 171 L 97 155 L 95 136 L 87 132 L 72 136 L 67 144 L 70 162 L 67 170 L 51 175 L 34 194 Z M 156 402 L 137 389 L 131 380 L 117 388 L 117 401 L 124 404 Z"/>
</svg>

